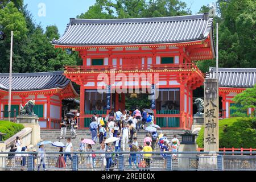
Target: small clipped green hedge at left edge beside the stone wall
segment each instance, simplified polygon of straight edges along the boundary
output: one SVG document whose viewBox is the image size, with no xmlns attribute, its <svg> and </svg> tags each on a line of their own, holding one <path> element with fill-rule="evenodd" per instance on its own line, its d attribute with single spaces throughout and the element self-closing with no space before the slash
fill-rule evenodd
<svg viewBox="0 0 256 182">
<path fill-rule="evenodd" d="M 24 126 L 21 124 L 13 123 L 10 121 L 0 121 L 0 132 L 6 133 L 6 135 L 3 136 L 3 140 L 12 137 L 22 129 L 24 129 Z"/>
</svg>

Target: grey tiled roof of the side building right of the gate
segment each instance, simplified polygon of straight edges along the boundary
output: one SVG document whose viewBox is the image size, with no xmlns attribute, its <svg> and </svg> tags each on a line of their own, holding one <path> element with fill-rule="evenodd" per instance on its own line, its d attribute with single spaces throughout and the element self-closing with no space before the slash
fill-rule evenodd
<svg viewBox="0 0 256 182">
<path fill-rule="evenodd" d="M 216 78 L 216 68 L 209 68 L 209 78 Z M 218 85 L 249 88 L 256 84 L 256 68 L 218 68 Z"/>
</svg>

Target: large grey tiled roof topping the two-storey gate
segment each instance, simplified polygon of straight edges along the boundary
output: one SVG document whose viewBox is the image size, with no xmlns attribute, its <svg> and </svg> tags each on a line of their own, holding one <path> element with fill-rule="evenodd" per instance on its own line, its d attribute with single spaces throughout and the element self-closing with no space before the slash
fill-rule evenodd
<svg viewBox="0 0 256 182">
<path fill-rule="evenodd" d="M 131 19 L 70 19 L 55 45 L 98 46 L 181 43 L 204 40 L 212 31 L 209 14 Z"/>
</svg>

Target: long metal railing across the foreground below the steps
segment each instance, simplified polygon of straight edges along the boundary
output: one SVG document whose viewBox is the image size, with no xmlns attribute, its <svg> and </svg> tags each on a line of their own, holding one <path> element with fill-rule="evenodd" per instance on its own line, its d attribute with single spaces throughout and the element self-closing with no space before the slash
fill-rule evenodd
<svg viewBox="0 0 256 182">
<path fill-rule="evenodd" d="M 237 155 L 232 155 L 233 153 Z M 19 154 L 21 156 L 17 156 Z M 60 154 L 63 156 L 59 156 Z M 148 154 L 150 156 L 147 156 Z M 225 152 L 225 155 L 223 154 L 224 152 L 214 154 L 209 152 L 46 152 L 46 156 L 40 158 L 38 152 L 1 152 L 0 170 L 256 170 L 256 152 Z M 39 164 L 42 164 L 40 168 L 38 168 Z"/>
</svg>

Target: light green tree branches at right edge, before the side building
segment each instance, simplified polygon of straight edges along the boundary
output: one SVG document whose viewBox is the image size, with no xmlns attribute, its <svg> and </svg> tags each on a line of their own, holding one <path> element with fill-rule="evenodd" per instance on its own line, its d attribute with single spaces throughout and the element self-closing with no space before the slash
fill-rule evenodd
<svg viewBox="0 0 256 182">
<path fill-rule="evenodd" d="M 230 109 L 238 110 L 238 112 L 249 108 L 256 108 L 256 84 L 253 88 L 246 89 L 245 91 L 237 94 L 233 98 L 233 101 L 241 107 L 232 106 Z M 256 116 L 255 110 L 253 115 Z"/>
</svg>

